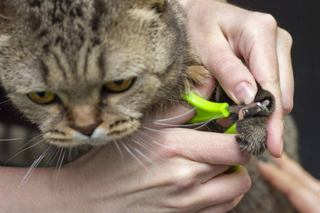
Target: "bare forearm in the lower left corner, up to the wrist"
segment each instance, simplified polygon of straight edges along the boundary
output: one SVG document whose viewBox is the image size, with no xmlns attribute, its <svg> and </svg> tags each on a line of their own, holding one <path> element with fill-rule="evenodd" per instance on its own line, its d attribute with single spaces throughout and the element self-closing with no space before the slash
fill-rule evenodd
<svg viewBox="0 0 320 213">
<path fill-rule="evenodd" d="M 28 176 L 28 168 L 0 168 L 0 209 L 7 212 L 50 212 L 63 209 L 60 180 L 55 168 L 37 168 Z M 58 171 L 57 171 L 58 172 Z M 65 211 L 63 211 L 65 212 Z"/>
</svg>

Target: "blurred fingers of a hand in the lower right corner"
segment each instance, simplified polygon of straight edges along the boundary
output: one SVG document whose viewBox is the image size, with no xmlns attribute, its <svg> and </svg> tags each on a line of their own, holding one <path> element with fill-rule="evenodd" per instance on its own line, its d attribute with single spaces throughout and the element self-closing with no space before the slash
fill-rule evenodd
<svg viewBox="0 0 320 213">
<path fill-rule="evenodd" d="M 320 181 L 286 154 L 272 163 L 258 162 L 257 168 L 267 182 L 284 193 L 298 212 L 319 212 Z"/>
</svg>

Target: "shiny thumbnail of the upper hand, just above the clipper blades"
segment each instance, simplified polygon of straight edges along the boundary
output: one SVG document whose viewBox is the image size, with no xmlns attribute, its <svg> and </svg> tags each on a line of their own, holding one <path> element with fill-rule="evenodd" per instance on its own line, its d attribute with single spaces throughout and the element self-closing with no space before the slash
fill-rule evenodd
<svg viewBox="0 0 320 213">
<path fill-rule="evenodd" d="M 238 100 L 237 104 L 250 104 L 255 99 L 257 91 L 248 82 L 242 82 L 235 87 L 235 98 Z"/>
</svg>

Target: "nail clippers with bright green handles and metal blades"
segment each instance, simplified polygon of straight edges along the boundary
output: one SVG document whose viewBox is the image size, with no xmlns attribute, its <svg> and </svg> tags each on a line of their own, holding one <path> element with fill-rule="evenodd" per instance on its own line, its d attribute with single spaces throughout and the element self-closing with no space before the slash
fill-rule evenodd
<svg viewBox="0 0 320 213">
<path fill-rule="evenodd" d="M 245 117 L 251 116 L 268 116 L 270 111 L 267 106 L 270 104 L 269 100 L 264 102 L 255 102 L 252 104 L 242 104 L 230 106 L 228 103 L 215 103 L 209 102 L 206 99 L 198 97 L 196 94 L 184 94 L 183 99 L 185 99 L 189 104 L 191 104 L 197 112 L 197 115 L 193 117 L 188 124 L 198 124 L 203 121 L 208 121 L 211 119 L 221 119 L 230 116 L 230 114 L 238 114 L 238 119 L 244 119 Z M 237 133 L 236 124 L 230 126 L 224 133 Z M 234 171 L 240 169 L 240 165 L 234 165 L 229 170 L 226 170 L 223 174 L 233 173 Z"/>
</svg>

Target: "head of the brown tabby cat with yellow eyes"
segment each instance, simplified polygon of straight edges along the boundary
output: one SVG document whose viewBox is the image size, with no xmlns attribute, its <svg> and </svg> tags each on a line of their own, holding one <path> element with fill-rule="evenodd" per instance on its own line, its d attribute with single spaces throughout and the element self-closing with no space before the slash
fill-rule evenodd
<svg viewBox="0 0 320 213">
<path fill-rule="evenodd" d="M 184 18 L 174 1 L 0 0 L 0 79 L 57 146 L 137 130 L 181 92 Z"/>
</svg>

